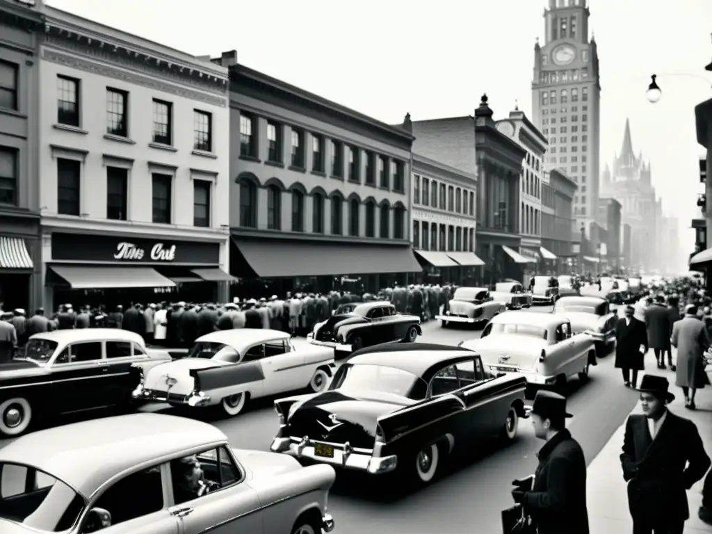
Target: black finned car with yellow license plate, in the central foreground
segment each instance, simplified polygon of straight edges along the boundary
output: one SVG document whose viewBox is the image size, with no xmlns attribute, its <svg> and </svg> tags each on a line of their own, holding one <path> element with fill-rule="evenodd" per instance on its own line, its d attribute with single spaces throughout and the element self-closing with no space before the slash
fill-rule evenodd
<svg viewBox="0 0 712 534">
<path fill-rule="evenodd" d="M 491 377 L 475 352 L 451 345 L 369 347 L 339 367 L 328 391 L 275 402 L 271 450 L 426 484 L 478 440 L 515 439 L 525 385 L 519 375 Z"/>
</svg>

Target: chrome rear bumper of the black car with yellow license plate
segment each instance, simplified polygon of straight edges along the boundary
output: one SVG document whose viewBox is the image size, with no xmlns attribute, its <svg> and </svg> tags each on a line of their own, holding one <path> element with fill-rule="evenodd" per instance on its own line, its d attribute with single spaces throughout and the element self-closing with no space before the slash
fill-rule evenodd
<svg viewBox="0 0 712 534">
<path fill-rule="evenodd" d="M 332 446 L 334 449 L 333 458 L 325 458 L 315 454 L 315 441 L 306 437 L 298 438 L 280 438 L 276 437 L 270 446 L 270 451 L 281 452 L 295 456 L 295 458 L 303 458 L 311 461 L 317 461 L 321 464 L 329 464 L 334 467 L 353 469 L 355 471 L 366 471 L 372 475 L 379 475 L 394 471 L 398 465 L 397 456 L 372 456 L 370 449 L 360 449 L 352 447 L 348 443 L 328 443 L 320 441 L 325 445 Z"/>
</svg>

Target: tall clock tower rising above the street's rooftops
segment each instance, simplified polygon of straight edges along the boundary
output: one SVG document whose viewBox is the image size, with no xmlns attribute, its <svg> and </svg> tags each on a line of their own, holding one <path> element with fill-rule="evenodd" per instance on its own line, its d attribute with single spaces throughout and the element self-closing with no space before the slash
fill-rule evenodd
<svg viewBox="0 0 712 534">
<path fill-rule="evenodd" d="M 562 169 L 578 184 L 572 230 L 580 232 L 583 225 L 592 239 L 599 197 L 601 85 L 589 16 L 587 0 L 548 0 L 545 43 L 537 39 L 534 46 L 532 117 L 549 140 L 546 167 Z"/>
</svg>

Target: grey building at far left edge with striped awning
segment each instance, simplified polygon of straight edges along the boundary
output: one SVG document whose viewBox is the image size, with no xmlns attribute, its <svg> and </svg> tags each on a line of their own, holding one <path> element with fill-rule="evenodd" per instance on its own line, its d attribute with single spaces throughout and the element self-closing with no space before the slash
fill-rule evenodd
<svg viewBox="0 0 712 534">
<path fill-rule="evenodd" d="M 33 6 L 0 0 L 0 308 L 36 308 L 42 263 L 37 166 L 38 41 Z"/>
</svg>

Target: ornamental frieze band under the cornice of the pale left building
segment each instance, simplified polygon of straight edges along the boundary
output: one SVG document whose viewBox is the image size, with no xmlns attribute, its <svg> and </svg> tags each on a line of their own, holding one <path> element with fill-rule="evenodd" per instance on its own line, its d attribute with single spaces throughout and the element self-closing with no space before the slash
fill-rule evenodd
<svg viewBox="0 0 712 534">
<path fill-rule="evenodd" d="M 65 53 L 50 50 L 49 48 L 43 48 L 42 58 L 45 61 L 51 61 L 52 63 L 57 63 L 58 65 L 76 68 L 78 70 L 83 70 L 85 72 L 104 76 L 106 78 L 114 78 L 115 80 L 121 80 L 125 83 L 131 83 L 133 85 L 142 85 L 145 88 L 162 91 L 163 93 L 171 93 L 183 98 L 188 98 L 189 100 L 196 100 L 214 105 L 219 108 L 227 108 L 229 105 L 227 98 L 207 95 L 206 93 L 200 93 L 197 90 L 189 88 L 182 88 L 178 85 L 167 83 L 157 78 L 150 78 L 147 75 L 131 73 L 126 70 L 120 70 L 118 68 L 104 65 L 103 63 L 98 63 L 98 61 L 110 61 L 109 59 L 103 60 L 103 58 L 95 58 L 95 61 L 90 61 L 88 59 L 77 58 L 75 56 L 69 56 Z M 116 61 L 114 61 L 114 63 L 116 63 Z"/>
</svg>

